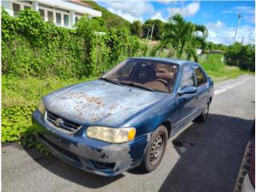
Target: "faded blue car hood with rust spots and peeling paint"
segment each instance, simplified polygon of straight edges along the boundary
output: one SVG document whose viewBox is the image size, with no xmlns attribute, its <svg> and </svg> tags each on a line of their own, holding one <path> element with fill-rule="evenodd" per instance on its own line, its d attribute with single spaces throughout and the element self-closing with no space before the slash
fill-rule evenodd
<svg viewBox="0 0 256 192">
<path fill-rule="evenodd" d="M 165 96 L 158 91 L 94 80 L 57 90 L 43 100 L 46 110 L 74 122 L 118 126 Z"/>
</svg>

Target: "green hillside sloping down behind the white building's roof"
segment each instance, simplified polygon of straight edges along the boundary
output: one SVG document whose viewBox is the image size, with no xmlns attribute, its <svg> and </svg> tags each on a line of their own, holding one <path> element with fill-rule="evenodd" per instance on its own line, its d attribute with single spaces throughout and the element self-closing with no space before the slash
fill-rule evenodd
<svg viewBox="0 0 256 192">
<path fill-rule="evenodd" d="M 106 21 L 106 26 L 108 27 L 130 27 L 130 22 L 128 22 L 126 19 L 118 16 L 117 14 L 111 13 L 109 10 L 106 10 L 106 8 L 99 6 L 97 2 L 93 1 L 83 1 L 90 6 L 94 10 L 99 10 L 102 12 L 102 18 Z"/>
</svg>

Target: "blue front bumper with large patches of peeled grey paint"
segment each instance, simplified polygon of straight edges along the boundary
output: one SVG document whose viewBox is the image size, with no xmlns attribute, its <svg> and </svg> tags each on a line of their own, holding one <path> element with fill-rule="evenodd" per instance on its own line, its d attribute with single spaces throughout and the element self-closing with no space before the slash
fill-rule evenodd
<svg viewBox="0 0 256 192">
<path fill-rule="evenodd" d="M 114 176 L 138 166 L 142 161 L 150 134 L 122 144 L 111 144 L 86 137 L 87 126 L 74 134 L 64 133 L 35 110 L 33 124 L 36 136 L 52 154 L 82 170 Z"/>
</svg>

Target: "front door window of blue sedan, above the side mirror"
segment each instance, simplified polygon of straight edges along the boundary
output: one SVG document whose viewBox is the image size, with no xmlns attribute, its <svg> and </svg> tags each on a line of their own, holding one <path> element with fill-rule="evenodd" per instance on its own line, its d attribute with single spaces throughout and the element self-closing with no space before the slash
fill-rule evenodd
<svg viewBox="0 0 256 192">
<path fill-rule="evenodd" d="M 184 86 L 195 86 L 194 70 L 192 66 L 183 67 L 180 87 L 184 87 Z"/>
</svg>

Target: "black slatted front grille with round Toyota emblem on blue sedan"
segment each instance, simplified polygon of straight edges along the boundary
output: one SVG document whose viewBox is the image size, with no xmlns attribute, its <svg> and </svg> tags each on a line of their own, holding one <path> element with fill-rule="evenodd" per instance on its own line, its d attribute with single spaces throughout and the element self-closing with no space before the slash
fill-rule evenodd
<svg viewBox="0 0 256 192">
<path fill-rule="evenodd" d="M 70 120 L 67 120 L 66 118 L 59 117 L 57 114 L 53 114 L 47 110 L 46 119 L 49 122 L 51 122 L 52 124 L 54 124 L 54 126 L 56 126 L 54 122 L 56 121 L 57 118 L 61 118 L 63 121 L 62 126 L 57 126 L 57 127 L 62 128 L 64 130 L 74 131 L 74 130 L 78 130 L 78 128 L 81 126 L 78 123 L 71 122 Z"/>
</svg>

